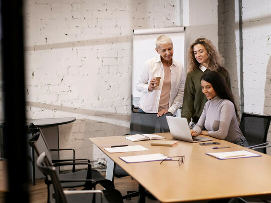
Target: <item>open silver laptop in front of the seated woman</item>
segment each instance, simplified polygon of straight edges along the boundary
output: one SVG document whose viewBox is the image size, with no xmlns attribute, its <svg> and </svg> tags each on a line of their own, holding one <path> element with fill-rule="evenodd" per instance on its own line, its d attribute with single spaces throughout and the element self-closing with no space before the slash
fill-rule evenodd
<svg viewBox="0 0 271 203">
<path fill-rule="evenodd" d="M 189 125 L 185 118 L 166 116 L 169 130 L 173 139 L 182 140 L 186 142 L 204 142 L 213 140 L 211 138 L 204 138 L 200 136 L 193 136 L 190 133 Z"/>
</svg>

